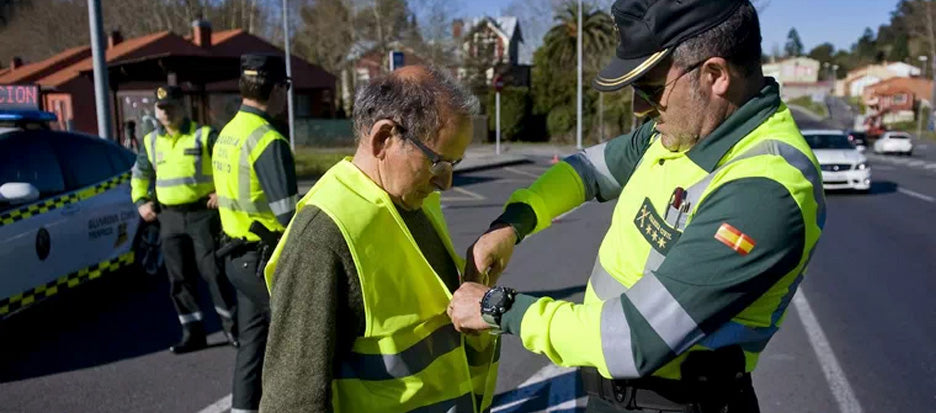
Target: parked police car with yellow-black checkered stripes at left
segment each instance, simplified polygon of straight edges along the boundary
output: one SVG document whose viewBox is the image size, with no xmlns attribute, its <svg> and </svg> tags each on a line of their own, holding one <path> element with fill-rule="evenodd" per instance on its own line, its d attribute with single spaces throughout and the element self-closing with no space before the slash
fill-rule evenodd
<svg viewBox="0 0 936 413">
<path fill-rule="evenodd" d="M 0 319 L 121 268 L 161 265 L 158 228 L 130 202 L 136 155 L 50 130 L 54 119 L 0 107 Z"/>
</svg>

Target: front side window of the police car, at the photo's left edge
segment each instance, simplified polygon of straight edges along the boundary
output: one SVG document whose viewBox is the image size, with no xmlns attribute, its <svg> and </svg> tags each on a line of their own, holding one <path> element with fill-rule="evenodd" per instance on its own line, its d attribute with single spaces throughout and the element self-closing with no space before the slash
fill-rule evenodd
<svg viewBox="0 0 936 413">
<path fill-rule="evenodd" d="M 42 198 L 65 192 L 62 170 L 42 133 L 16 131 L 0 135 L 0 185 L 27 182 L 39 190 Z"/>
</svg>

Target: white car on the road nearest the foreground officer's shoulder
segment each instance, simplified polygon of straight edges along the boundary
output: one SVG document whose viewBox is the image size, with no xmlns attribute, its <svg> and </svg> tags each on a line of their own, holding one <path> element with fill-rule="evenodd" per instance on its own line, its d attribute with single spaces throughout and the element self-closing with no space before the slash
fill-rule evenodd
<svg viewBox="0 0 936 413">
<path fill-rule="evenodd" d="M 819 160 L 825 189 L 871 189 L 871 166 L 848 135 L 839 130 L 804 130 L 803 137 Z"/>
</svg>

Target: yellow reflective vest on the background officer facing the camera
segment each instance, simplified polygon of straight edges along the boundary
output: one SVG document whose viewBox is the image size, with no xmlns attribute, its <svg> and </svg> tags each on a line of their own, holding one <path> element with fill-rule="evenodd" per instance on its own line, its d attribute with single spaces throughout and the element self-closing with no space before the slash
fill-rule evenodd
<svg viewBox="0 0 936 413">
<path fill-rule="evenodd" d="M 164 205 L 195 202 L 214 192 L 210 133 L 210 127 L 189 121 L 175 135 L 154 130 L 144 136 L 145 156 L 137 159 L 130 180 L 133 202 L 152 200 L 154 179 L 156 199 Z"/>
</svg>

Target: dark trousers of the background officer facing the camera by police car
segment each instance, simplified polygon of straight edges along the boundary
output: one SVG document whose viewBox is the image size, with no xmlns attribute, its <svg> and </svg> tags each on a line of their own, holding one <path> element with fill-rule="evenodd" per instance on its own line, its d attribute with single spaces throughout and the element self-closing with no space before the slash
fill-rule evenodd
<svg viewBox="0 0 936 413">
<path fill-rule="evenodd" d="M 214 254 L 215 235 L 221 228 L 218 211 L 164 207 L 159 214 L 159 225 L 170 295 L 183 327 L 200 322 L 203 317 L 198 307 L 197 271 L 208 283 L 211 301 L 224 329 L 235 333 L 234 289 L 221 273 Z"/>
</svg>

